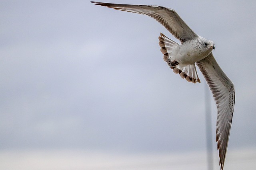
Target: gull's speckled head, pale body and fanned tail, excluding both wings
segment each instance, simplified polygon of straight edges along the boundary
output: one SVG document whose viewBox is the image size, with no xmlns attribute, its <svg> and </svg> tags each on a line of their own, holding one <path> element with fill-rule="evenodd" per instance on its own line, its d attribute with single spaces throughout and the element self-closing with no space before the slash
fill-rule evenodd
<svg viewBox="0 0 256 170">
<path fill-rule="evenodd" d="M 196 36 L 194 39 L 184 41 L 179 45 L 162 33 L 159 41 L 161 51 L 164 54 L 164 61 L 168 63 L 170 68 L 188 82 L 200 82 L 195 63 L 210 55 L 212 49 L 215 49 L 214 42 Z"/>
</svg>

